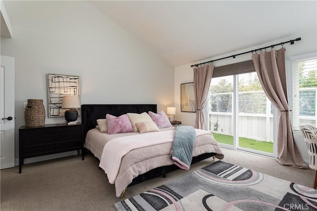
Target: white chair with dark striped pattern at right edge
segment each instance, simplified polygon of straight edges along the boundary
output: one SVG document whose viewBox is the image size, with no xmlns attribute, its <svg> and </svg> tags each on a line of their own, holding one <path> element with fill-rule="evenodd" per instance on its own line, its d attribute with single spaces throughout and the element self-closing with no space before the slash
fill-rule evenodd
<svg viewBox="0 0 317 211">
<path fill-rule="evenodd" d="M 304 136 L 304 141 L 306 142 L 306 148 L 308 155 L 310 157 L 309 167 L 317 170 L 317 128 L 304 124 L 300 126 L 300 129 Z M 315 175 L 314 188 L 317 187 L 317 171 Z"/>
</svg>

